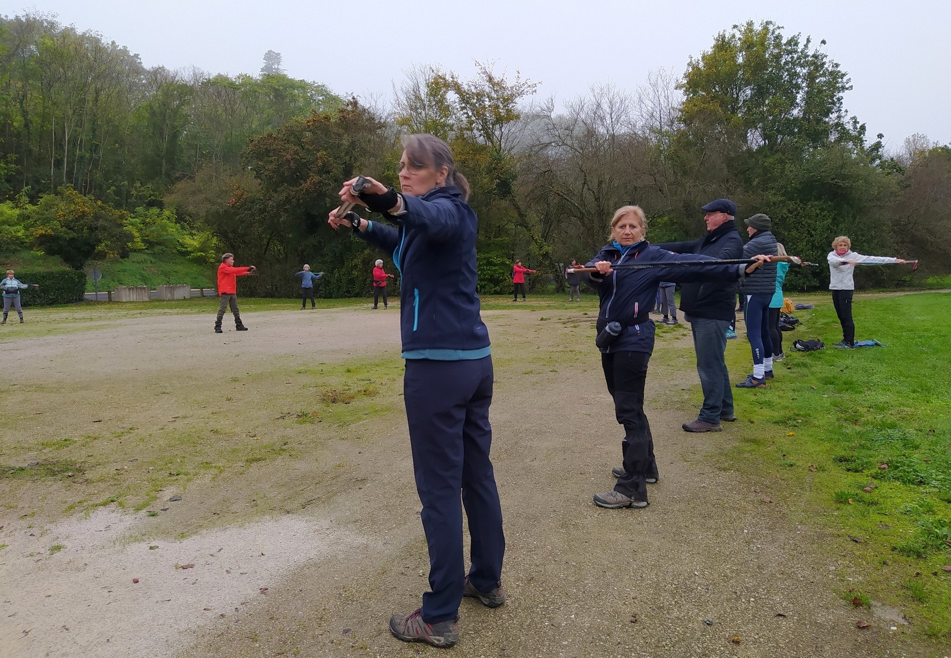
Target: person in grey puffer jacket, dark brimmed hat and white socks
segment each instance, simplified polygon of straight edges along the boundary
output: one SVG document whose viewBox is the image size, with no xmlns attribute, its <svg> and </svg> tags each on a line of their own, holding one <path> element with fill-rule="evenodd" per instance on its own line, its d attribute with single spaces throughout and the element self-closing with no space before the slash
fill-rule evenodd
<svg viewBox="0 0 951 658">
<path fill-rule="evenodd" d="M 748 217 L 749 241 L 743 246 L 743 257 L 756 254 L 776 255 L 776 236 L 769 232 L 769 216 L 758 213 Z M 753 352 L 753 373 L 737 388 L 766 388 L 772 373 L 772 341 L 769 338 L 769 302 L 776 292 L 776 263 L 765 263 L 740 284 L 740 293 L 746 299 L 744 319 L 747 323 L 749 348 Z"/>
</svg>

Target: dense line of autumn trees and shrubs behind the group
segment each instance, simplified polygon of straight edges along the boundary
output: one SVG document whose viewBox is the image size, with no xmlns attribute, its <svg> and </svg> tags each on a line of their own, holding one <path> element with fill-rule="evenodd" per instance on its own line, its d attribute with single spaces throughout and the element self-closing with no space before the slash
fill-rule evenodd
<svg viewBox="0 0 951 658">
<path fill-rule="evenodd" d="M 700 235 L 714 197 L 772 216 L 790 253 L 822 258 L 846 234 L 859 251 L 922 257 L 925 273 L 951 265 L 951 148 L 914 136 L 884 154 L 846 114 L 840 66 L 772 23 L 719 34 L 682 76 L 592 87 L 564 106 L 532 103 L 532 81 L 493 66 L 470 79 L 418 67 L 380 108 L 288 78 L 279 53 L 264 62 L 233 78 L 146 69 L 48 17 L 3 19 L 0 252 L 81 269 L 129 250 L 227 250 L 259 266 L 261 293 L 290 292 L 309 262 L 328 273 L 322 294 L 359 294 L 376 254 L 326 225 L 340 181 L 396 183 L 400 134 L 429 132 L 473 186 L 483 292 L 507 287 L 514 257 L 557 276 L 626 203 L 648 212 L 651 239 Z"/>
</svg>

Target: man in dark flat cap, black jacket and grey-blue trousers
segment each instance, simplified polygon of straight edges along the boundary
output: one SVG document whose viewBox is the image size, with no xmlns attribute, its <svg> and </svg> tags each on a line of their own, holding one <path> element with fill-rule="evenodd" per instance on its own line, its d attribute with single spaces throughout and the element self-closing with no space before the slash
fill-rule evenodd
<svg viewBox="0 0 951 658">
<path fill-rule="evenodd" d="M 707 234 L 689 242 L 657 245 L 675 254 L 705 254 L 713 258 L 743 256 L 743 238 L 736 229 L 736 204 L 728 198 L 709 202 L 701 210 L 707 222 Z M 733 321 L 736 285 L 725 282 L 681 284 L 680 310 L 684 311 L 693 332 L 697 354 L 697 374 L 704 391 L 704 405 L 696 421 L 684 423 L 688 432 L 719 432 L 720 421 L 735 421 L 733 392 L 727 371 L 727 329 Z"/>
</svg>

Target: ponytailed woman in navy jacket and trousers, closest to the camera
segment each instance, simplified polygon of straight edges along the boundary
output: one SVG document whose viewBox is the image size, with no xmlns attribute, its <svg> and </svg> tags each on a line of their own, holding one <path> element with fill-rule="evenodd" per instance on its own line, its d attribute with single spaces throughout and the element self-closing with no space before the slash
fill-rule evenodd
<svg viewBox="0 0 951 658">
<path fill-rule="evenodd" d="M 489 333 L 476 295 L 476 226 L 466 200 L 469 184 L 456 172 L 445 141 L 432 135 L 403 139 L 401 192 L 367 179 L 354 196 L 354 180 L 340 199 L 383 214 L 397 228 L 362 219 L 349 223 L 393 258 L 399 289 L 403 399 L 409 423 L 422 524 L 429 546 L 429 585 L 415 612 L 395 614 L 390 630 L 400 640 L 450 647 L 458 640 L 458 608 L 474 596 L 495 608 L 501 587 L 502 511 L 489 449 L 493 369 Z M 433 273 L 439 273 L 434 276 Z M 472 568 L 465 575 L 462 505 L 472 537 Z"/>
</svg>

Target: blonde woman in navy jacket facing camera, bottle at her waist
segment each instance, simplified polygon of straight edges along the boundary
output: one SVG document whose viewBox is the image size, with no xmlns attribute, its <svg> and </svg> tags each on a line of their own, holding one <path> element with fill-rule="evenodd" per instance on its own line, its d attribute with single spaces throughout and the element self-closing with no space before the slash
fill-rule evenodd
<svg viewBox="0 0 951 658">
<path fill-rule="evenodd" d="M 648 506 L 647 484 L 657 481 L 657 461 L 653 454 L 650 424 L 644 413 L 644 384 L 648 362 L 654 344 L 654 323 L 648 313 L 653 308 L 654 296 L 661 280 L 689 283 L 699 280 L 722 280 L 726 285 L 767 260 L 744 265 L 696 265 L 684 268 L 650 268 L 643 270 L 614 270 L 614 266 L 628 263 L 671 262 L 685 260 L 713 260 L 701 254 L 671 254 L 650 245 L 647 218 L 639 206 L 624 206 L 611 219 L 611 244 L 603 247 L 588 263 L 598 273 L 588 274 L 588 283 L 600 297 L 597 317 L 598 333 L 611 322 L 619 322 L 624 329 L 611 343 L 601 349 L 601 367 L 614 400 L 617 422 L 624 426 L 621 442 L 624 466 L 611 469 L 617 478 L 614 490 L 594 495 L 599 507 L 643 508 Z"/>
</svg>

